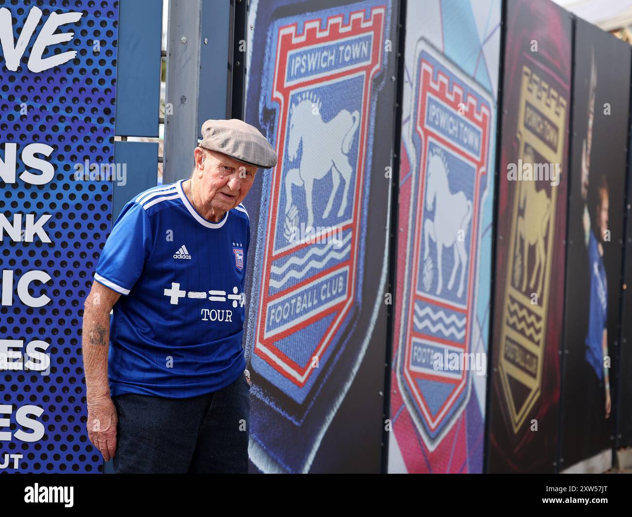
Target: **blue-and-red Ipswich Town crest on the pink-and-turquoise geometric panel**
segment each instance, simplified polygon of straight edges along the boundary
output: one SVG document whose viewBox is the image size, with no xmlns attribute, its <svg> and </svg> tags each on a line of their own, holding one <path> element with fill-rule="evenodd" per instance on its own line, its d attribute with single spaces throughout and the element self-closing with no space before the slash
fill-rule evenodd
<svg viewBox="0 0 632 517">
<path fill-rule="evenodd" d="M 465 408 L 492 101 L 426 42 L 415 52 L 411 204 L 397 379 L 428 450 Z M 487 180 L 489 181 L 489 179 Z"/>
</svg>

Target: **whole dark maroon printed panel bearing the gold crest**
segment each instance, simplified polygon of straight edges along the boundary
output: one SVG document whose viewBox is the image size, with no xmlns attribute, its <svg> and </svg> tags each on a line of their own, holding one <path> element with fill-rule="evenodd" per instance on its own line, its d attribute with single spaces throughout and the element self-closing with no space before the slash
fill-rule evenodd
<svg viewBox="0 0 632 517">
<path fill-rule="evenodd" d="M 488 470 L 553 472 L 571 15 L 549 1 L 506 8 Z"/>
</svg>

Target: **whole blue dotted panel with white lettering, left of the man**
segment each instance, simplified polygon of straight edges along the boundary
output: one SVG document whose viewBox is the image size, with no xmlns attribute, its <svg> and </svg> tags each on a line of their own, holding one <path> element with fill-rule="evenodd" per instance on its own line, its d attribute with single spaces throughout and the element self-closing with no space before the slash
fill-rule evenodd
<svg viewBox="0 0 632 517">
<path fill-rule="evenodd" d="M 102 470 L 81 324 L 124 179 L 117 26 L 115 1 L 0 0 L 0 471 Z"/>
</svg>

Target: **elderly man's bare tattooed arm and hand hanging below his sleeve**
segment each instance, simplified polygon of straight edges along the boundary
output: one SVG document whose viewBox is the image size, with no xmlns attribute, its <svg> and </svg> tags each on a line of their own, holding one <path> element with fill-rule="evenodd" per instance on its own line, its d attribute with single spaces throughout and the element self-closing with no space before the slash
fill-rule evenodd
<svg viewBox="0 0 632 517">
<path fill-rule="evenodd" d="M 83 368 L 87 392 L 88 437 L 109 461 L 116 451 L 116 408 L 107 380 L 110 311 L 121 296 L 94 281 L 83 308 Z"/>
</svg>

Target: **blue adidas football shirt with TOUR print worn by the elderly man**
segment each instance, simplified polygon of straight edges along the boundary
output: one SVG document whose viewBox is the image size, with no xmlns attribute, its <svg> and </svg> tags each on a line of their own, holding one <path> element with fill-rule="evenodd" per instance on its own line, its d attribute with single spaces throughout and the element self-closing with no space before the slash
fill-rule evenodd
<svg viewBox="0 0 632 517">
<path fill-rule="evenodd" d="M 110 325 L 112 396 L 189 398 L 243 375 L 248 214 L 238 205 L 204 219 L 184 181 L 128 202 L 99 257 L 95 281 L 123 295 Z"/>
</svg>

